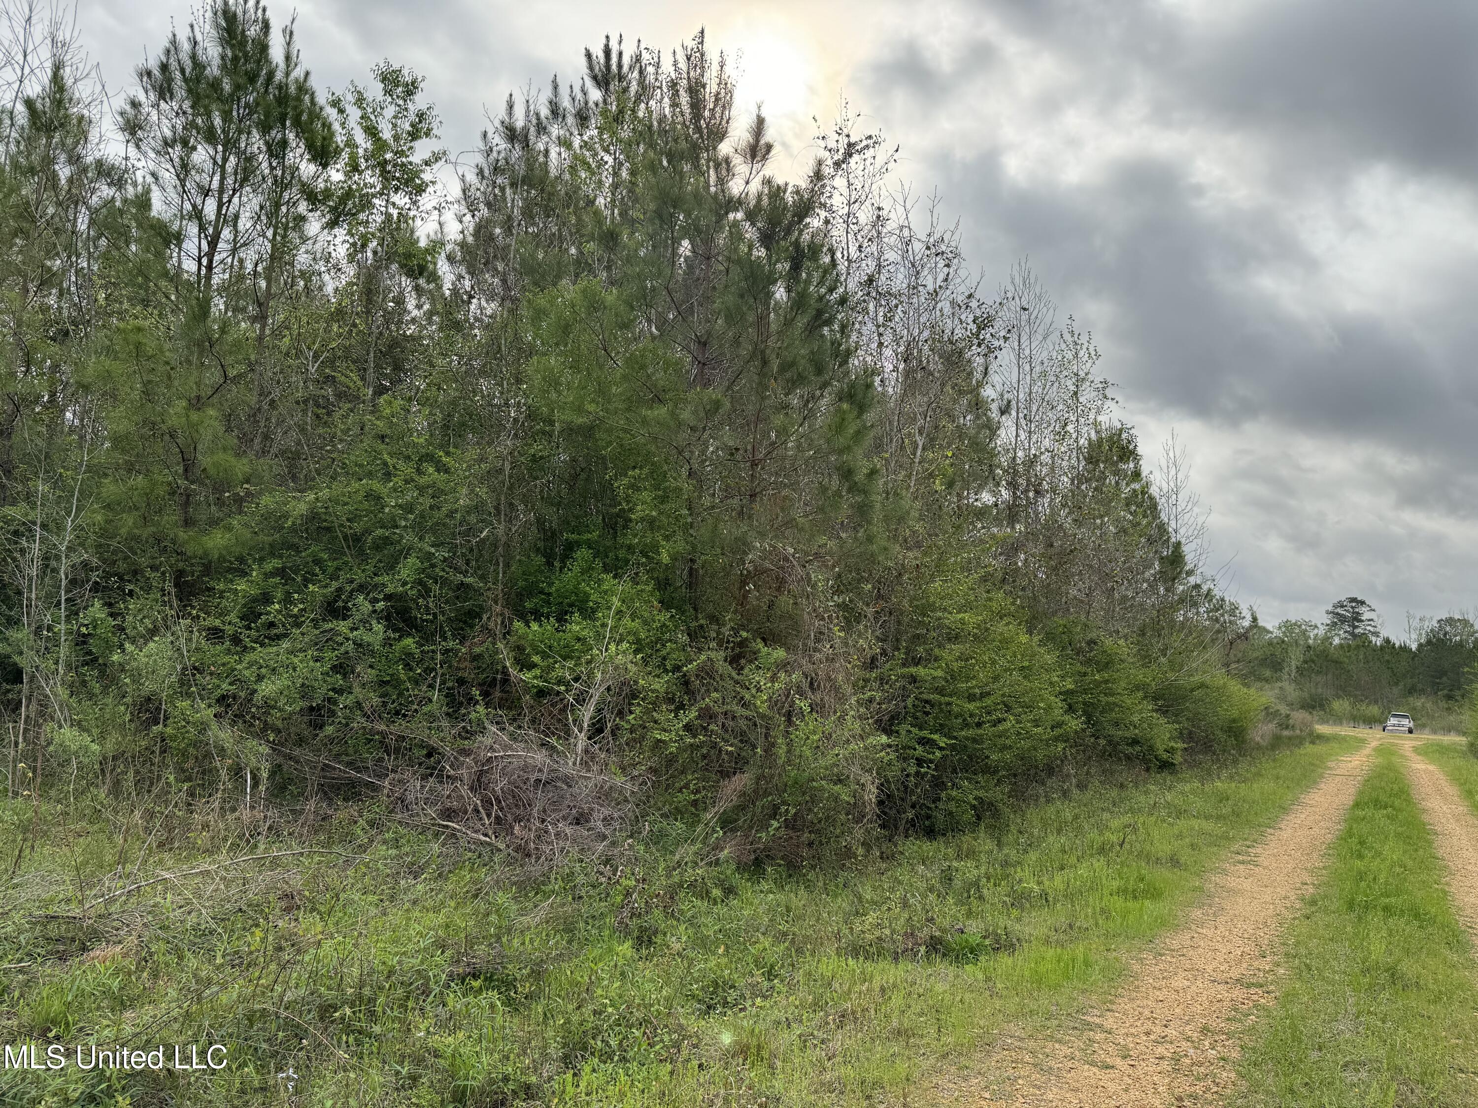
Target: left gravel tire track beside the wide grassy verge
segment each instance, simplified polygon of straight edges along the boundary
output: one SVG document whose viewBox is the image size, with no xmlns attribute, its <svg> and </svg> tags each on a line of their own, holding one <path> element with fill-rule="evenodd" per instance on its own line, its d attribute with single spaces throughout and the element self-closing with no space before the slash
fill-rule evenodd
<svg viewBox="0 0 1478 1108">
<path fill-rule="evenodd" d="M 1240 1021 L 1274 997 L 1268 982 L 1278 972 L 1278 934 L 1344 827 L 1375 745 L 1332 762 L 1242 860 L 1208 882 L 1187 923 L 1089 1018 L 1086 1040 L 1054 1043 L 1011 1093 L 967 1093 L 967 1102 L 1151 1108 L 1225 1096 L 1236 1086 Z M 1018 1061 L 1001 1061 L 1020 1073 Z"/>
</svg>

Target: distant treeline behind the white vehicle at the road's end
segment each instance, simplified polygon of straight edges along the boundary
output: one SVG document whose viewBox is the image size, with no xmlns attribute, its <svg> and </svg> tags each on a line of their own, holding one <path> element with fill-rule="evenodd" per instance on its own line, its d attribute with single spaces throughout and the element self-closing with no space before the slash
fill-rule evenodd
<svg viewBox="0 0 1478 1108">
<path fill-rule="evenodd" d="M 1462 730 L 1478 683 L 1471 616 L 1413 619 L 1397 641 L 1360 597 L 1335 601 L 1324 623 L 1253 618 L 1239 646 L 1240 672 L 1281 703 L 1336 722 L 1377 724 L 1411 711 L 1423 730 Z"/>
</svg>

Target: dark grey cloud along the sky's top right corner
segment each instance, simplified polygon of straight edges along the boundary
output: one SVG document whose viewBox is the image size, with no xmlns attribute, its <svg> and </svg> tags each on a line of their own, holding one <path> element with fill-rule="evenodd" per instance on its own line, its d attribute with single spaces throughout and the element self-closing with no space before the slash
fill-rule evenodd
<svg viewBox="0 0 1478 1108">
<path fill-rule="evenodd" d="M 1338 151 L 1463 174 L 1478 165 L 1478 4 L 1468 0 L 1222 0 L 1188 18 L 1157 0 L 975 3 L 1073 55 L 1100 96 L 1148 77 L 1165 112 L 1278 131 L 1290 154 Z"/>
</svg>

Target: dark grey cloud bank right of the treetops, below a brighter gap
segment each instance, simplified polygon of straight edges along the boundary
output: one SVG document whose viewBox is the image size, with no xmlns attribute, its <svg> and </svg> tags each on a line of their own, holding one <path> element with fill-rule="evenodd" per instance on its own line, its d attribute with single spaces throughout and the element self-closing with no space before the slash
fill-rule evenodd
<svg viewBox="0 0 1478 1108">
<path fill-rule="evenodd" d="M 1332 433 L 1380 428 L 1400 409 L 1438 424 L 1474 415 L 1472 378 L 1445 372 L 1462 349 L 1434 353 L 1369 315 L 1329 312 L 1312 329 L 1253 278 L 1271 264 L 1312 276 L 1317 260 L 1271 211 L 1209 210 L 1175 164 L 1126 160 L 1076 188 L 1024 186 L 999 164 L 953 170 L 944 192 L 996 225 L 995 259 L 1039 259 L 1069 309 L 1113 304 L 1097 325 L 1132 363 L 1108 369 L 1142 402 L 1231 425 L 1283 411 Z"/>
</svg>

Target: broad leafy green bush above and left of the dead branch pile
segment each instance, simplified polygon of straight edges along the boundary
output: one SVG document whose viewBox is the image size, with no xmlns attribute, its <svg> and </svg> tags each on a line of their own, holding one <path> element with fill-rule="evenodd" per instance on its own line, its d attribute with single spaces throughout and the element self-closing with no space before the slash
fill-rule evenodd
<svg viewBox="0 0 1478 1108">
<path fill-rule="evenodd" d="M 368 717 L 433 708 L 457 680 L 479 616 L 460 557 L 463 459 L 393 408 L 375 428 L 393 449 L 355 451 L 316 488 L 251 505 L 238 524 L 251 554 L 201 612 L 195 665 L 253 728 L 353 739 Z"/>
</svg>

